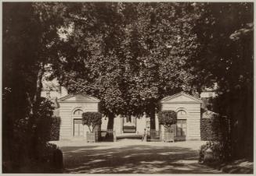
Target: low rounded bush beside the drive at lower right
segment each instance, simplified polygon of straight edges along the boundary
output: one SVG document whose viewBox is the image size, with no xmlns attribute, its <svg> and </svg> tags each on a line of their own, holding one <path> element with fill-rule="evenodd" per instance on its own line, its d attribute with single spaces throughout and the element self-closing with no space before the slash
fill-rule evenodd
<svg viewBox="0 0 256 176">
<path fill-rule="evenodd" d="M 211 150 L 212 157 L 205 157 L 207 150 Z M 207 142 L 200 146 L 199 162 L 201 164 L 218 165 L 228 162 L 231 157 L 230 143 L 223 142 Z"/>
</svg>

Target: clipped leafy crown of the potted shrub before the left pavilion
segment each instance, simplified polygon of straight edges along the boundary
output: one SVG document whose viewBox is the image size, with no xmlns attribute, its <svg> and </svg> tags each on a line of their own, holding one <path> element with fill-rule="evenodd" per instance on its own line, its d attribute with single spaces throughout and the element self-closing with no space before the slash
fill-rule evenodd
<svg viewBox="0 0 256 176">
<path fill-rule="evenodd" d="M 96 125 L 101 125 L 102 118 L 103 115 L 99 112 L 84 112 L 82 114 L 82 123 L 83 125 L 88 126 L 90 132 L 93 132 L 93 129 L 96 127 Z"/>
</svg>

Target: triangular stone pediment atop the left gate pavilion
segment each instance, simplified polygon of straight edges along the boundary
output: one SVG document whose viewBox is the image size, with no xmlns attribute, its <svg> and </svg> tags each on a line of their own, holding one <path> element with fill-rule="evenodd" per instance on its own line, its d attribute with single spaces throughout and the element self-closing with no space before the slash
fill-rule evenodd
<svg viewBox="0 0 256 176">
<path fill-rule="evenodd" d="M 91 97 L 83 93 L 67 95 L 59 99 L 59 102 L 96 102 L 99 103 L 99 99 Z"/>
</svg>

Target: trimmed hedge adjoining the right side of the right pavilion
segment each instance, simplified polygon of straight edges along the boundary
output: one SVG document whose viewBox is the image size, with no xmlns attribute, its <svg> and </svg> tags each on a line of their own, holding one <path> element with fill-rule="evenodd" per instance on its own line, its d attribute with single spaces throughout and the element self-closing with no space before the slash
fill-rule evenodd
<svg viewBox="0 0 256 176">
<path fill-rule="evenodd" d="M 218 114 L 213 114 L 211 118 L 201 118 L 200 133 L 204 141 L 225 141 L 229 134 L 229 120 Z"/>
</svg>

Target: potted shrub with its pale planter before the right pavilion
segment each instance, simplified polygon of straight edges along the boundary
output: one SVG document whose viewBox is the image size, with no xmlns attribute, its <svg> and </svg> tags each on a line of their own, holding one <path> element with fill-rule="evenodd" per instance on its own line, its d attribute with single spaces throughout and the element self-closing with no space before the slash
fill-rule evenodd
<svg viewBox="0 0 256 176">
<path fill-rule="evenodd" d="M 167 132 L 164 132 L 164 141 L 175 141 L 175 128 L 177 123 L 177 113 L 175 111 L 160 111 L 158 113 L 160 125 L 164 125 Z"/>
</svg>

